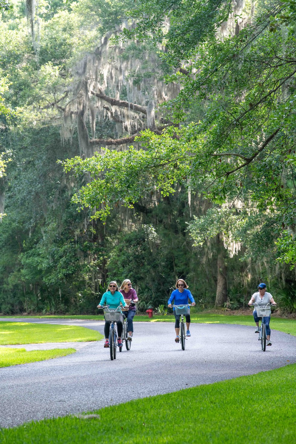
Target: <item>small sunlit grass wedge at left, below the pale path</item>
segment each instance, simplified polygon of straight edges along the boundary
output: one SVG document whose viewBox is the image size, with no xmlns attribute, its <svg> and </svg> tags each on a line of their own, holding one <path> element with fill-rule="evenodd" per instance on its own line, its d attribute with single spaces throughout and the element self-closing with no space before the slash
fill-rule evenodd
<svg viewBox="0 0 296 444">
<path fill-rule="evenodd" d="M 75 353 L 75 349 L 51 349 L 32 350 L 13 349 L 5 347 L 0 349 L 0 367 L 10 367 L 11 365 L 28 364 L 29 362 L 45 361 L 47 359 L 59 358 Z M 1 438 L 0 438 L 1 439 Z"/>
</svg>

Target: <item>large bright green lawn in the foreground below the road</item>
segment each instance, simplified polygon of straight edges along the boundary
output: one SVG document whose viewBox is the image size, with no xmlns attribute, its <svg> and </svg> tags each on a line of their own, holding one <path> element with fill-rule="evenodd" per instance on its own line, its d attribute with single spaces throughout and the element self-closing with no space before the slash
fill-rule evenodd
<svg viewBox="0 0 296 444">
<path fill-rule="evenodd" d="M 0 443 L 291 444 L 296 365 L 0 430 Z M 128 412 L 128 414 L 123 413 Z"/>
</svg>

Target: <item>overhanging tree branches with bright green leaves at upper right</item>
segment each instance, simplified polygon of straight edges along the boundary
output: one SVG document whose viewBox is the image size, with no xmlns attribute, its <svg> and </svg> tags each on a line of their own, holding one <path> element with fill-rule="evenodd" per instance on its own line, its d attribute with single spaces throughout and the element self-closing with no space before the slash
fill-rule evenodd
<svg viewBox="0 0 296 444">
<path fill-rule="evenodd" d="M 217 31 L 229 4 L 218 2 L 212 15 L 211 2 L 138 4 L 137 15 L 145 18 L 124 36 L 144 39 L 154 31 L 154 43 L 166 44 L 161 56 L 176 69 L 166 80 L 181 83 L 182 90 L 160 109 L 183 123 L 161 135 L 145 131 L 136 138 L 143 149 L 104 150 L 91 159 L 65 162 L 65 170 L 88 171 L 92 178 L 73 201 L 81 207 L 102 205 L 95 217 L 106 220 L 118 203 L 132 207 L 154 186 L 167 196 L 181 182 L 202 190 L 213 203 L 263 210 L 276 218 L 279 230 L 293 230 L 295 173 L 287 156 L 295 152 L 296 136 L 294 27 L 271 25 L 273 16 L 284 15 L 285 4 L 260 4 L 256 19 L 221 39 Z M 172 23 L 168 31 L 160 26 L 165 16 Z M 198 35 L 189 32 L 197 22 Z M 190 108 L 205 100 L 204 119 L 186 123 Z"/>
</svg>

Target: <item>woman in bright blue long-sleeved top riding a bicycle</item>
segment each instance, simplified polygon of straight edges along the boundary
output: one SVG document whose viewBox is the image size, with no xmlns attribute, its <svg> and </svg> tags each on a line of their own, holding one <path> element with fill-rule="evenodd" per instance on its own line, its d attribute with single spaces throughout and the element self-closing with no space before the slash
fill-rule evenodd
<svg viewBox="0 0 296 444">
<path fill-rule="evenodd" d="M 192 305 L 195 305 L 195 301 L 193 299 L 193 296 L 188 290 L 188 286 L 186 282 L 183 279 L 178 279 L 176 282 L 176 290 L 172 292 L 170 295 L 170 299 L 168 300 L 168 307 L 172 306 L 172 302 L 174 301 L 174 305 L 185 305 L 188 304 L 188 299 L 192 302 Z M 175 342 L 179 342 L 179 333 L 180 333 L 180 315 L 176 314 L 176 310 L 173 309 L 174 316 L 175 316 L 175 331 L 176 331 L 176 337 Z M 191 336 L 189 331 L 189 325 L 190 325 L 190 308 L 188 307 L 186 317 L 186 336 Z"/>
</svg>

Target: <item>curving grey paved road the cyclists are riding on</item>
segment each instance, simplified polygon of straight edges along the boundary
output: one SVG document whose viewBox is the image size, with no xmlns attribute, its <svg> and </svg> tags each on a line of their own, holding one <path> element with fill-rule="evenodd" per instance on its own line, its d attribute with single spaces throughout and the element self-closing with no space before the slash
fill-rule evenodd
<svg viewBox="0 0 296 444">
<path fill-rule="evenodd" d="M 102 322 L 36 321 L 103 333 Z M 91 411 L 296 362 L 296 337 L 275 330 L 272 347 L 263 353 L 254 326 L 191 324 L 185 351 L 174 342 L 173 324 L 135 322 L 134 329 L 130 351 L 124 349 L 115 361 L 99 341 L 67 357 L 0 369 L 0 426 Z M 129 377 L 135 383 L 125 389 Z"/>
</svg>

